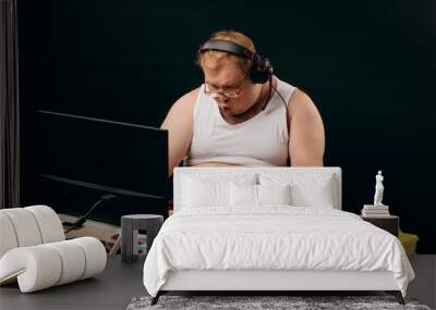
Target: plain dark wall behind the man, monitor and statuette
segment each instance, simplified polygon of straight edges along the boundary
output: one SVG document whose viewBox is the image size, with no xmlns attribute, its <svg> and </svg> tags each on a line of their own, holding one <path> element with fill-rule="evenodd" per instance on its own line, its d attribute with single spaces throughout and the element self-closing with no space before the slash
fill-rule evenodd
<svg viewBox="0 0 436 310">
<path fill-rule="evenodd" d="M 383 170 L 384 202 L 435 253 L 436 2 L 325 2 L 20 1 L 25 200 L 35 109 L 159 126 L 202 83 L 198 45 L 233 28 L 318 107 L 343 209 L 371 203 Z"/>
</svg>

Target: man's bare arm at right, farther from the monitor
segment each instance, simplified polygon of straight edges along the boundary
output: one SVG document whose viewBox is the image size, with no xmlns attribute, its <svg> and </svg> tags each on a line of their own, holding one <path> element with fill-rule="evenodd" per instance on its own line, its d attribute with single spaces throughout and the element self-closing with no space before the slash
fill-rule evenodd
<svg viewBox="0 0 436 310">
<path fill-rule="evenodd" d="M 295 89 L 289 101 L 289 154 L 292 166 L 322 166 L 325 136 L 323 120 L 312 99 Z"/>
</svg>

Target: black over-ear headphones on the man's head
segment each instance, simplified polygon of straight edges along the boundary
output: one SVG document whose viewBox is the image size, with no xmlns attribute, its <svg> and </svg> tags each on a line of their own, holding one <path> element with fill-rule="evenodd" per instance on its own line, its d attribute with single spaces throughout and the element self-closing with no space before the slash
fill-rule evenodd
<svg viewBox="0 0 436 310">
<path fill-rule="evenodd" d="M 199 46 L 197 54 L 205 51 L 223 51 L 232 53 L 252 61 L 250 69 L 250 78 L 254 84 L 264 84 L 272 76 L 272 64 L 269 59 L 261 57 L 258 53 L 253 52 L 243 46 L 228 40 L 210 39 Z"/>
</svg>

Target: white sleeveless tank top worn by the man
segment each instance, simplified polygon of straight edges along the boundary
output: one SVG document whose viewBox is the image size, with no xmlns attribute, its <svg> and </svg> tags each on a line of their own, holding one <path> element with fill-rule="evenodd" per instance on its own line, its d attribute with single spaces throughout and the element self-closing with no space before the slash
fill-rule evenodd
<svg viewBox="0 0 436 310">
<path fill-rule="evenodd" d="M 277 90 L 288 104 L 295 87 L 277 78 Z M 229 124 L 222 119 L 211 96 L 204 94 L 204 85 L 201 86 L 194 106 L 187 165 L 221 162 L 280 166 L 287 164 L 288 157 L 287 109 L 277 92 L 274 92 L 264 111 L 243 123 Z"/>
</svg>

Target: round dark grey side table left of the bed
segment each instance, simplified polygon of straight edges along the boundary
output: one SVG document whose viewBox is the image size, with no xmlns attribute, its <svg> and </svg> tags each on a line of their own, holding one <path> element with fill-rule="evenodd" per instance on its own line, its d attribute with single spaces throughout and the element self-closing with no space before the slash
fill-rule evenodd
<svg viewBox="0 0 436 310">
<path fill-rule="evenodd" d="M 138 256 L 137 233 L 147 231 L 147 252 L 164 223 L 162 215 L 132 214 L 121 216 L 121 261 L 134 262 Z"/>
</svg>

